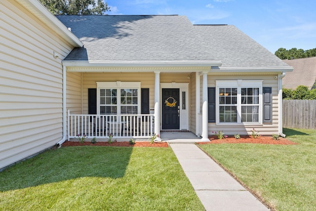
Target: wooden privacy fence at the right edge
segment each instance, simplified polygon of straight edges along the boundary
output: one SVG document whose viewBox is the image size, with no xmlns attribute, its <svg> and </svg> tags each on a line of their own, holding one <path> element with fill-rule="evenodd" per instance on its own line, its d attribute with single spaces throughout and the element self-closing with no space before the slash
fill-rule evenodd
<svg viewBox="0 0 316 211">
<path fill-rule="evenodd" d="M 283 127 L 316 129 L 316 100 L 283 100 Z"/>
</svg>

